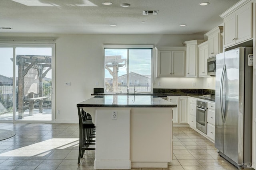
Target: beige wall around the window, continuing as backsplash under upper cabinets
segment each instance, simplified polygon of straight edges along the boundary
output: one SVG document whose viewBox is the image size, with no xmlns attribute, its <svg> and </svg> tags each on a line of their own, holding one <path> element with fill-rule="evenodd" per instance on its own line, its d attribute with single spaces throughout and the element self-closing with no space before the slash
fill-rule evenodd
<svg viewBox="0 0 256 170">
<path fill-rule="evenodd" d="M 153 44 L 182 46 L 184 41 L 203 39 L 204 35 L 72 35 L 72 34 L 10 34 L 0 38 L 56 39 L 56 123 L 78 123 L 76 104 L 91 97 L 93 88 L 104 87 L 104 44 Z M 156 63 L 156 51 L 154 63 Z M 154 67 L 156 68 L 156 67 Z M 204 88 L 205 78 L 157 78 L 154 88 Z M 158 86 L 158 81 L 161 86 Z M 64 86 L 71 82 L 71 86 Z M 98 82 L 99 86 L 95 86 Z M 196 86 L 192 86 L 196 82 Z M 206 79 L 208 82 L 208 79 Z M 214 87 L 214 88 L 213 88 Z M 212 86 L 215 89 L 215 85 Z"/>
</svg>

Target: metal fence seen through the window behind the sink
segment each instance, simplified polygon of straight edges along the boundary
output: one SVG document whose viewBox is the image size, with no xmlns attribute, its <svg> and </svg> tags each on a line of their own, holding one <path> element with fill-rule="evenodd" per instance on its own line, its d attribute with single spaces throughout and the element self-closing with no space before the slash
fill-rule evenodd
<svg viewBox="0 0 256 170">
<path fill-rule="evenodd" d="M 113 84 L 106 84 L 106 92 L 113 92 Z M 129 84 L 129 92 L 150 92 L 150 84 Z M 127 84 L 118 84 L 118 92 L 127 92 Z"/>
</svg>

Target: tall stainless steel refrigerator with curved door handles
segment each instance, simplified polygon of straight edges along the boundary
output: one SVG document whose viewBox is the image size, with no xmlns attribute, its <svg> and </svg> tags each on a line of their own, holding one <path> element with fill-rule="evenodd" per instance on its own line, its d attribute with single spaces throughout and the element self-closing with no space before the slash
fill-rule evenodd
<svg viewBox="0 0 256 170">
<path fill-rule="evenodd" d="M 216 55 L 215 147 L 220 156 L 237 167 L 252 162 L 249 54 L 252 47 L 238 47 Z"/>
</svg>

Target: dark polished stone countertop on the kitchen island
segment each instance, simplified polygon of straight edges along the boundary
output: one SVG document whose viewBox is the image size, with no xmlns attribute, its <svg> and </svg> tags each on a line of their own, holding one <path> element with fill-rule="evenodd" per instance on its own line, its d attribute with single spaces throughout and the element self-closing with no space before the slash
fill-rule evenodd
<svg viewBox="0 0 256 170">
<path fill-rule="evenodd" d="M 80 102 L 77 107 L 177 107 L 177 105 L 151 95 L 106 95 Z"/>
</svg>

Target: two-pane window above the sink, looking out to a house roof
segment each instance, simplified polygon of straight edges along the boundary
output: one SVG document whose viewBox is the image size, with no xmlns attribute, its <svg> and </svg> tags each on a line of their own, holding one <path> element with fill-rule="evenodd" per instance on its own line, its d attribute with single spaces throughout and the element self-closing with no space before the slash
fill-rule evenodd
<svg viewBox="0 0 256 170">
<path fill-rule="evenodd" d="M 152 46 L 106 46 L 105 92 L 150 92 Z"/>
</svg>

